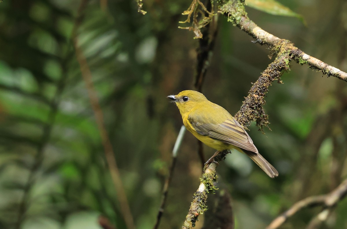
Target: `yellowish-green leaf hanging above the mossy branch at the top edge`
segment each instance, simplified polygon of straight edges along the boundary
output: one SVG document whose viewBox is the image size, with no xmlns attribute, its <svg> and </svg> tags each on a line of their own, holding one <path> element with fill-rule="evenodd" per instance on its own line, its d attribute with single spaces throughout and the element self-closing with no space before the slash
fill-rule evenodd
<svg viewBox="0 0 347 229">
<path fill-rule="evenodd" d="M 254 9 L 264 11 L 265 13 L 272 15 L 288 16 L 288 17 L 297 17 L 306 25 L 306 22 L 300 14 L 295 13 L 286 6 L 283 6 L 281 3 L 275 0 L 245 0 L 247 6 Z"/>
</svg>

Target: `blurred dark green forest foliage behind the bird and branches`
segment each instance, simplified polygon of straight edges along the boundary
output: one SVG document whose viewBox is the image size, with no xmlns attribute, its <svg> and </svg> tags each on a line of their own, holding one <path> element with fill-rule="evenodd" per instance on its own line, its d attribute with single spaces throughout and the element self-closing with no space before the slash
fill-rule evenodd
<svg viewBox="0 0 347 229">
<path fill-rule="evenodd" d="M 246 7 L 264 30 L 347 70 L 347 3 L 279 1 L 296 17 Z M 0 228 L 101 228 L 103 215 L 126 228 L 72 41 L 91 71 L 136 228 L 153 228 L 182 120 L 167 95 L 194 89 L 194 33 L 178 29 L 190 1 L 3 0 L 0 2 Z M 81 10 L 80 10 L 81 11 Z M 77 20 L 77 15 L 84 15 Z M 189 26 L 189 25 L 186 25 Z M 235 114 L 271 63 L 269 50 L 218 17 L 202 92 Z M 269 88 L 265 135 L 249 135 L 278 169 L 270 179 L 245 155 L 229 154 L 218 184 L 232 200 L 235 228 L 260 229 L 298 200 L 326 194 L 347 176 L 347 84 L 307 65 Z M 196 139 L 186 133 L 159 228 L 179 228 L 201 176 Z M 214 150 L 204 148 L 205 158 Z M 212 194 L 210 194 L 212 196 Z M 322 209 L 305 209 L 282 228 L 305 228 Z M 199 217 L 202 228 L 207 211 Z M 322 228 L 347 228 L 347 199 Z"/>
</svg>

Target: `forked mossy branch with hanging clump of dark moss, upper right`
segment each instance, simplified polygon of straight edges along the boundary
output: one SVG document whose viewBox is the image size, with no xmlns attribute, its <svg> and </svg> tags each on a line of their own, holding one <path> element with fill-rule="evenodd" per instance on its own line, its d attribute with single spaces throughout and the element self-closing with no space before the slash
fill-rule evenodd
<svg viewBox="0 0 347 229">
<path fill-rule="evenodd" d="M 262 108 L 265 103 L 264 96 L 268 92 L 268 87 L 272 81 L 277 79 L 278 82 L 281 82 L 280 77 L 283 70 L 289 69 L 291 60 L 295 60 L 301 65 L 308 64 L 310 68 L 319 70 L 328 77 L 334 76 L 347 81 L 346 72 L 305 54 L 289 40 L 280 39 L 257 26 L 248 18 L 243 0 L 222 1 L 219 5 L 219 13 L 227 16 L 228 21 L 232 22 L 233 25 L 255 38 L 255 42 L 269 46 L 272 50 L 270 57 L 277 55 L 275 60 L 269 64 L 268 68 L 253 84 L 248 96 L 243 101 L 240 111 L 236 113 L 235 117 L 240 124 L 248 125 L 251 121 L 255 121 L 262 131 L 263 127 L 269 124 L 268 116 Z"/>
</svg>

